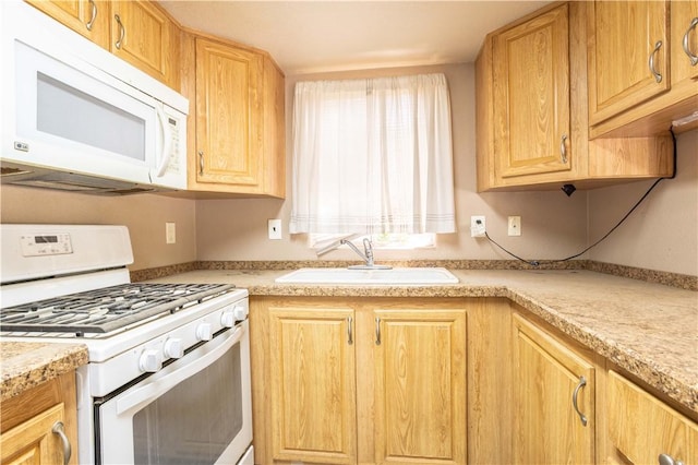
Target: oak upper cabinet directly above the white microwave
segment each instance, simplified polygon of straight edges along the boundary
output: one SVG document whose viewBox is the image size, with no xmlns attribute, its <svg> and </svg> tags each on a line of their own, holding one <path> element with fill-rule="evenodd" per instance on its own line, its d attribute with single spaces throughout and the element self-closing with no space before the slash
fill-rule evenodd
<svg viewBox="0 0 698 465">
<path fill-rule="evenodd" d="M 155 2 L 28 0 L 27 3 L 179 90 L 179 26 Z"/>
</svg>

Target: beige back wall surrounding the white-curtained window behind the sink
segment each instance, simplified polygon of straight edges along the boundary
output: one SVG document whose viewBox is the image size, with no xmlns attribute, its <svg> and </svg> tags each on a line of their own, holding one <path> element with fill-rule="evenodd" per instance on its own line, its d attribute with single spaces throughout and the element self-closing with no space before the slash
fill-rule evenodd
<svg viewBox="0 0 698 465">
<path fill-rule="evenodd" d="M 567 257 L 586 243 L 586 193 L 567 198 L 562 191 L 485 193 L 476 192 L 474 65 L 449 64 L 402 70 L 370 70 L 287 76 L 286 202 L 277 200 L 210 200 L 196 207 L 196 242 L 201 260 L 313 260 L 306 237 L 286 234 L 291 211 L 291 115 L 294 83 L 299 80 L 351 79 L 396 73 L 444 72 L 448 79 L 453 108 L 454 169 L 458 234 L 441 235 L 435 249 L 377 251 L 381 259 L 508 259 L 486 239 L 470 237 L 470 215 L 485 215 L 495 240 L 520 255 L 532 259 Z M 506 217 L 522 217 L 522 236 L 506 236 Z M 268 218 L 281 218 L 282 240 L 268 240 Z M 356 259 L 350 250 L 337 250 L 322 260 Z"/>
</svg>

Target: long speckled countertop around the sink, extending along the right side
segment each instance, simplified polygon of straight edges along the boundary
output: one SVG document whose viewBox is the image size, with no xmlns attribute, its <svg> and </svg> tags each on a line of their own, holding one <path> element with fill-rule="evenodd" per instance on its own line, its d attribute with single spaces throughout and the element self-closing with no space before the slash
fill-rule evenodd
<svg viewBox="0 0 698 465">
<path fill-rule="evenodd" d="M 438 286 L 288 285 L 289 271 L 198 270 L 155 282 L 232 283 L 251 296 L 506 297 L 698 414 L 698 293 L 585 270 L 452 270 Z"/>
</svg>

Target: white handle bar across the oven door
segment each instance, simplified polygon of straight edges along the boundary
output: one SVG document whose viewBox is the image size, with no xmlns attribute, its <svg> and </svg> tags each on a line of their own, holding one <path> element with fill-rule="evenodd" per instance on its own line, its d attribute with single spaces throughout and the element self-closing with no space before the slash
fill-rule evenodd
<svg viewBox="0 0 698 465">
<path fill-rule="evenodd" d="M 212 349 L 209 353 L 201 357 L 196 357 L 194 361 L 176 369 L 174 371 L 164 375 L 163 378 L 149 378 L 148 380 L 153 380 L 153 382 L 149 382 L 144 386 L 139 388 L 133 392 L 124 395 L 123 397 L 117 400 L 117 414 L 121 415 L 134 407 L 140 408 L 142 405 L 147 405 L 153 402 L 153 400 L 159 397 L 180 382 L 202 371 L 203 369 L 218 360 L 218 358 L 233 345 L 238 344 L 242 339 L 244 333 L 245 325 L 241 324 L 232 332 L 232 334 L 222 336 L 227 337 L 227 339 L 224 341 L 219 346 Z M 202 347 L 205 347 L 205 345 Z M 184 356 L 184 358 L 186 358 L 186 356 Z"/>
</svg>

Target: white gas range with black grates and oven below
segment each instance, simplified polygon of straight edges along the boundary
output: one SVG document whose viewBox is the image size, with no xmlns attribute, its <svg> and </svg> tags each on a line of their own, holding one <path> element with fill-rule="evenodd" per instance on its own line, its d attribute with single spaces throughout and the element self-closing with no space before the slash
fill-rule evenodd
<svg viewBox="0 0 698 465">
<path fill-rule="evenodd" d="M 130 283 L 123 226 L 0 234 L 0 337 L 87 345 L 80 463 L 253 463 L 245 289 Z"/>
</svg>

